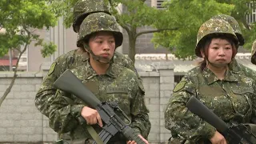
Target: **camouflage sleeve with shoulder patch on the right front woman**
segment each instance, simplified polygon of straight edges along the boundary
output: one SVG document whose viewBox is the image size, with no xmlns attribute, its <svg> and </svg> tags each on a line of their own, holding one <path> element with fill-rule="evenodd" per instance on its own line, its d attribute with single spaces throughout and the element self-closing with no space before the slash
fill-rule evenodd
<svg viewBox="0 0 256 144">
<path fill-rule="evenodd" d="M 212 138 L 215 132 L 213 126 L 192 114 L 186 108 L 186 102 L 196 96 L 194 82 L 184 76 L 175 86 L 174 92 L 166 106 L 165 126 L 172 133 L 197 142 L 199 138 Z"/>
</svg>

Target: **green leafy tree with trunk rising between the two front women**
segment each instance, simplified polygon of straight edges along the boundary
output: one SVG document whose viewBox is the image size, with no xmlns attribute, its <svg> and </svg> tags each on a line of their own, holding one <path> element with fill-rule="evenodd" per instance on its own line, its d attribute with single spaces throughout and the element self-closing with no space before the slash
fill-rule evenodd
<svg viewBox="0 0 256 144">
<path fill-rule="evenodd" d="M 72 23 L 72 7 L 78 0 L 55 2 L 56 11 L 64 15 L 65 24 Z M 154 33 L 154 46 L 164 46 L 178 58 L 194 58 L 196 35 L 203 22 L 216 14 L 228 14 L 238 20 L 246 38 L 246 48 L 255 39 L 255 26 L 248 24 L 246 14 L 252 10 L 247 6 L 250 0 L 171 0 L 164 2 L 165 9 L 148 6 L 146 0 L 106 0 L 110 2 L 110 12 L 127 31 L 129 37 L 129 57 L 134 60 L 135 42 L 141 34 Z M 149 1 L 151 2 L 151 1 Z M 122 13 L 118 4 L 122 3 Z M 153 30 L 138 32 L 142 26 L 152 26 Z"/>
</svg>

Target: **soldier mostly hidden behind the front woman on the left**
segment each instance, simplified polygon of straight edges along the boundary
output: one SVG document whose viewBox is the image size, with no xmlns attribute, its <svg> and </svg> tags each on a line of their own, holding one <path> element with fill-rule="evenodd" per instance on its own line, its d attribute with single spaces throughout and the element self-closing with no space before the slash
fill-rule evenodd
<svg viewBox="0 0 256 144">
<path fill-rule="evenodd" d="M 78 1 L 77 4 L 74 6 L 74 32 L 78 32 L 83 18 L 86 18 L 88 14 L 93 14 L 96 12 L 104 12 L 106 14 L 109 14 L 108 11 L 108 7 L 105 6 L 105 3 L 103 3 L 102 0 Z M 54 97 L 54 94 L 56 93 L 56 88 L 53 86 L 55 80 L 67 69 L 84 66 L 87 59 L 88 54 L 83 47 L 79 47 L 76 50 L 71 50 L 66 54 L 62 54 L 50 66 L 50 70 L 46 75 L 46 78 L 43 79 L 42 86 L 38 90 L 38 93 L 35 97 L 35 106 L 38 108 L 38 110 L 42 112 L 42 114 L 45 114 L 46 117 L 49 116 L 48 109 L 50 107 L 50 102 L 51 99 Z M 134 70 L 139 78 L 141 89 L 144 91 L 142 79 L 139 77 L 137 71 L 135 70 L 134 63 L 130 58 L 127 58 L 126 56 L 118 52 L 114 52 L 114 57 L 111 59 L 111 62 L 119 66 L 124 66 L 130 70 Z"/>
</svg>

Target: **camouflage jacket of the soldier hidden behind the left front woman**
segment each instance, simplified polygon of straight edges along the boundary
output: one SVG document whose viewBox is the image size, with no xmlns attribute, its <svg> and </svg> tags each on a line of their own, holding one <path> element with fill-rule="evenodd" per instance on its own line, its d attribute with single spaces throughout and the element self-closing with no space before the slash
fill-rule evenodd
<svg viewBox="0 0 256 144">
<path fill-rule="evenodd" d="M 77 50 L 71 50 L 66 54 L 62 54 L 62 56 L 55 60 L 48 74 L 43 79 L 42 85 L 35 96 L 35 106 L 42 114 L 45 114 L 46 117 L 49 116 L 50 111 L 48 109 L 50 107 L 50 102 L 56 93 L 56 88 L 53 86 L 55 80 L 67 69 L 84 66 L 88 58 L 88 54 L 82 50 L 82 48 L 78 48 Z M 123 54 L 115 52 L 113 62 L 118 66 L 124 66 L 136 72 L 131 59 L 125 57 Z M 137 72 L 136 74 L 139 78 L 141 89 L 144 91 L 142 79 L 139 77 Z"/>
</svg>

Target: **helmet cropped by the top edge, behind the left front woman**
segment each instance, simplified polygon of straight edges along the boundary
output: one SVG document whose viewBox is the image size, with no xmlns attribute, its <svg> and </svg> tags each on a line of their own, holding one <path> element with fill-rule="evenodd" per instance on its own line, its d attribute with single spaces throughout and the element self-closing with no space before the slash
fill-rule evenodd
<svg viewBox="0 0 256 144">
<path fill-rule="evenodd" d="M 73 10 L 73 30 L 78 33 L 79 27 L 84 18 L 89 14 L 104 12 L 110 14 L 109 5 L 104 0 L 79 0 Z"/>
</svg>

